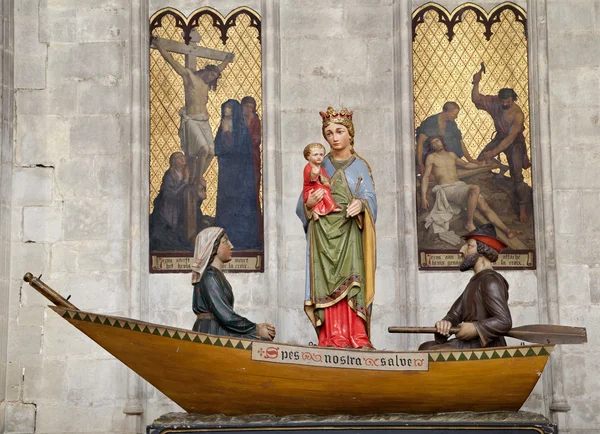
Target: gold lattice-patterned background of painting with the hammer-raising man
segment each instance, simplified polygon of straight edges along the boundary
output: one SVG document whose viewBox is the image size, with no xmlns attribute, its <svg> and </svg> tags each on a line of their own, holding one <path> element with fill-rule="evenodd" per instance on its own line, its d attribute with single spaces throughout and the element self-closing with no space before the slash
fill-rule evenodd
<svg viewBox="0 0 600 434">
<path fill-rule="evenodd" d="M 460 8 L 468 5 L 489 17 L 505 4 L 498 5 L 489 14 L 472 3 Z M 413 18 L 431 5 L 447 12 L 437 4 L 427 3 L 413 12 Z M 526 15 L 515 4 L 510 5 Z M 451 19 L 453 14 L 447 13 L 447 16 Z M 517 103 L 525 114 L 524 134 L 527 152 L 530 153 L 527 38 L 523 24 L 517 21 L 512 11 L 502 11 L 500 18 L 500 22 L 492 25 L 492 36 L 487 41 L 484 24 L 477 21 L 474 11 L 466 11 L 462 21 L 454 27 L 454 37 L 449 41 L 448 27 L 439 22 L 438 13 L 427 11 L 424 22 L 417 26 L 413 41 L 415 129 L 427 117 L 440 113 L 444 102 L 455 101 L 461 107 L 456 123 L 474 158 L 495 131 L 491 117 L 477 110 L 471 102 L 473 74 L 479 70 L 481 62 L 487 69 L 479 86 L 481 94 L 497 95 L 503 87 L 513 88 L 517 93 Z M 507 164 L 504 154 L 501 154 L 501 160 Z M 531 169 L 523 171 L 523 176 L 525 182 L 531 185 Z"/>
</svg>

